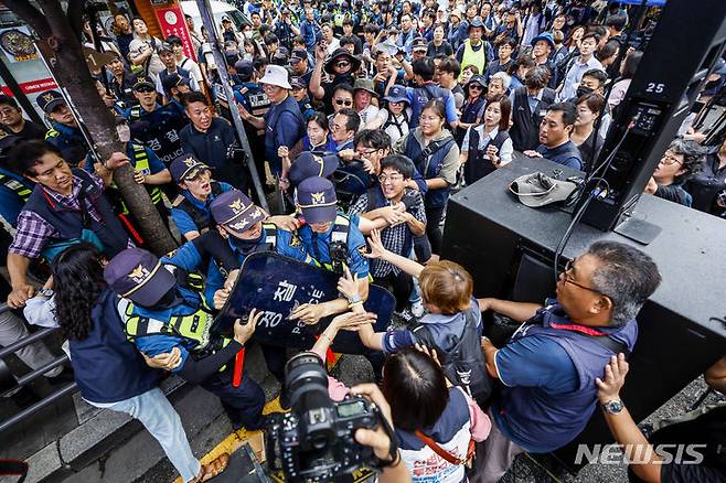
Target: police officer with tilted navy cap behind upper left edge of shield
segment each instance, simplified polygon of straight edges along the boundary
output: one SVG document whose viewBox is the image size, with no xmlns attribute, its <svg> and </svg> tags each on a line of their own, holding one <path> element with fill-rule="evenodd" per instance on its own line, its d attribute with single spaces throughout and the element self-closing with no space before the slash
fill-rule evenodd
<svg viewBox="0 0 726 483">
<path fill-rule="evenodd" d="M 239 190 L 215 197 L 211 210 L 220 233 L 227 239 L 239 265 L 247 256 L 259 251 L 274 251 L 305 264 L 314 264 L 296 233 L 266 222 L 267 214 Z M 210 270 L 207 286 L 215 291 L 214 307 L 221 309 L 229 296 L 229 280 L 225 285 L 218 270 Z M 280 342 L 281 345 L 260 343 L 260 346 L 267 368 L 280 383 L 285 383 L 287 357 L 285 341 Z"/>
</svg>

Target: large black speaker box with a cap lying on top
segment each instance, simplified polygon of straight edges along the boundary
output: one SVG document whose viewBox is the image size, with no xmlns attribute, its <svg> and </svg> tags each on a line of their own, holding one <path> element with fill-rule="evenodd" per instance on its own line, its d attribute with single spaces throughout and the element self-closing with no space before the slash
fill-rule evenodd
<svg viewBox="0 0 726 483">
<path fill-rule="evenodd" d="M 515 178 L 531 172 L 577 174 L 543 159 L 517 158 L 451 196 L 442 258 L 461 264 L 474 279 L 477 297 L 543 302 L 554 298 L 554 251 L 572 221 L 563 208 L 531 208 L 510 193 Z M 562 262 L 600 239 L 631 244 L 651 256 L 663 282 L 638 315 L 623 400 L 639 421 L 726 355 L 726 223 L 651 195 L 643 195 L 633 222 L 662 230 L 649 245 L 588 225 L 575 228 Z M 557 451 L 570 466 L 577 443 L 612 441 L 600 411 L 568 447 Z"/>
</svg>

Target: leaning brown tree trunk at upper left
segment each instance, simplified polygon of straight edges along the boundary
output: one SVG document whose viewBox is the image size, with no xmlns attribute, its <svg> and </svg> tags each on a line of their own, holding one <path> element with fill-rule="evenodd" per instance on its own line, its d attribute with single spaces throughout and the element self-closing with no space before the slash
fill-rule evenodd
<svg viewBox="0 0 726 483">
<path fill-rule="evenodd" d="M 94 147 L 102 159 L 113 152 L 125 152 L 116 132 L 114 115 L 96 90 L 88 72 L 78 39 L 84 0 L 68 1 L 67 14 L 57 0 L 40 0 L 41 13 L 28 0 L 3 0 L 3 3 L 28 23 L 47 46 L 49 65 L 58 85 L 67 93 L 87 128 Z M 45 45 L 43 45 L 45 47 Z M 43 49 L 45 50 L 45 49 Z M 162 223 L 143 185 L 134 180 L 134 169 L 125 165 L 114 172 L 114 181 L 129 211 L 139 223 L 141 236 L 154 254 L 161 256 L 173 250 L 177 242 Z"/>
</svg>

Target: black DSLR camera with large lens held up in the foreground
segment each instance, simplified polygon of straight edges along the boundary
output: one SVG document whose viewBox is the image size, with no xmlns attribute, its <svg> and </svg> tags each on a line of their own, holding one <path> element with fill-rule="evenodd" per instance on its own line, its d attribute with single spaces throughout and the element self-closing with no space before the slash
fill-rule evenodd
<svg viewBox="0 0 726 483">
<path fill-rule="evenodd" d="M 285 390 L 291 410 L 271 415 L 265 431 L 269 470 L 288 482 L 328 482 L 361 466 L 374 468 L 373 450 L 353 439 L 359 428 L 393 431 L 378 408 L 361 396 L 333 402 L 328 374 L 317 354 L 303 352 L 286 365 Z"/>
</svg>

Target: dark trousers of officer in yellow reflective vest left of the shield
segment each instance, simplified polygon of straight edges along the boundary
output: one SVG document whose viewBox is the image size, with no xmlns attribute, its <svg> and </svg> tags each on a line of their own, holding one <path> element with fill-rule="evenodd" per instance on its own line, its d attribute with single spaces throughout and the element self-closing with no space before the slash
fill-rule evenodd
<svg viewBox="0 0 726 483">
<path fill-rule="evenodd" d="M 201 386 L 220 398 L 233 425 L 242 423 L 250 431 L 263 429 L 265 426 L 263 417 L 265 391 L 247 374 L 242 375 L 239 387 L 234 387 L 231 365 L 234 365 L 234 359 L 229 361 L 226 371 L 215 373 Z"/>
</svg>

